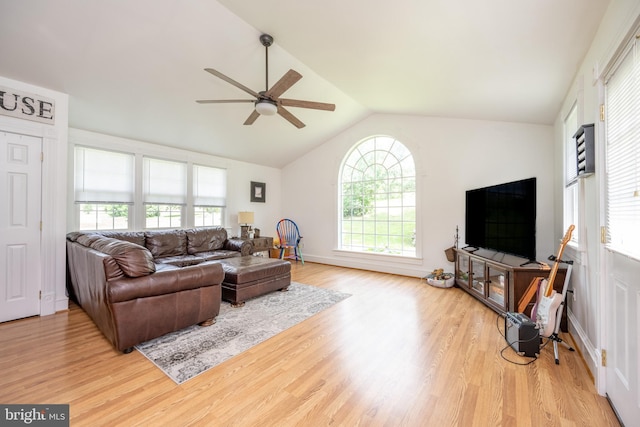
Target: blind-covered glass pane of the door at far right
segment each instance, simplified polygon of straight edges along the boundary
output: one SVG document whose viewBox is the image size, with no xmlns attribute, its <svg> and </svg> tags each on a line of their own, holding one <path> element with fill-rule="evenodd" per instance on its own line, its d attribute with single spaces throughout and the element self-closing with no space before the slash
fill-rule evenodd
<svg viewBox="0 0 640 427">
<path fill-rule="evenodd" d="M 640 48 L 634 39 L 605 82 L 607 245 L 640 258 Z"/>
</svg>

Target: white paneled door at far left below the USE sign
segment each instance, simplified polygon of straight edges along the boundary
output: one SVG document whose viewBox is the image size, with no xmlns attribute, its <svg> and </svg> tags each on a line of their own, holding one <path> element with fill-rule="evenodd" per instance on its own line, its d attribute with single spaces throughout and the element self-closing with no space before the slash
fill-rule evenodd
<svg viewBox="0 0 640 427">
<path fill-rule="evenodd" d="M 0 322 L 40 313 L 41 152 L 0 131 Z"/>
</svg>

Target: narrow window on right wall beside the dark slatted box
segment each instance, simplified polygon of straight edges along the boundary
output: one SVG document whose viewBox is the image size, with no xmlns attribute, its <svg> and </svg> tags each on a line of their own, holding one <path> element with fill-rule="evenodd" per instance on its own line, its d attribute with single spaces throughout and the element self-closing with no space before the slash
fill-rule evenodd
<svg viewBox="0 0 640 427">
<path fill-rule="evenodd" d="M 566 230 L 571 224 L 576 226 L 571 235 L 571 241 L 573 242 L 578 242 L 580 229 L 578 227 L 578 165 L 576 161 L 576 140 L 573 138 L 578 126 L 578 108 L 574 103 L 564 119 L 565 189 L 563 227 L 563 230 Z"/>
</svg>

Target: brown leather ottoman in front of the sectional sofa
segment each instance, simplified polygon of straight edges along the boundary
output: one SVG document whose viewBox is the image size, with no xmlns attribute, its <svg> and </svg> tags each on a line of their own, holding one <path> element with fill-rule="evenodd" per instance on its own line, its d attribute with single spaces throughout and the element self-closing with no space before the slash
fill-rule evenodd
<svg viewBox="0 0 640 427">
<path fill-rule="evenodd" d="M 219 261 L 224 270 L 222 299 L 234 307 L 249 298 L 286 291 L 291 284 L 291 263 L 282 259 L 242 256 Z"/>
</svg>

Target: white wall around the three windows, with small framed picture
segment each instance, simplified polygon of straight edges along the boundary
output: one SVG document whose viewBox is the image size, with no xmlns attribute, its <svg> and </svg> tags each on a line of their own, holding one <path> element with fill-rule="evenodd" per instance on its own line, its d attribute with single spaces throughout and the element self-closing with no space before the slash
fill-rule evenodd
<svg viewBox="0 0 640 427">
<path fill-rule="evenodd" d="M 69 131 L 69 165 L 73 165 L 73 146 L 76 144 L 224 168 L 227 170 L 228 191 L 224 226 L 230 227 L 233 235 L 239 234 L 238 212 L 253 211 L 256 221 L 253 226 L 260 229 L 261 235 L 273 236 L 275 233 L 276 223 L 280 219 L 281 212 L 280 169 L 80 129 L 70 129 Z M 251 202 L 251 181 L 266 184 L 265 203 Z M 68 171 L 67 195 L 67 203 L 69 206 L 73 206 L 73 168 L 71 167 Z M 69 215 L 67 220 L 68 231 L 76 229 L 73 214 L 74 212 Z"/>
</svg>

